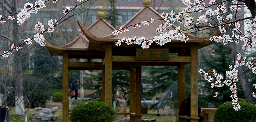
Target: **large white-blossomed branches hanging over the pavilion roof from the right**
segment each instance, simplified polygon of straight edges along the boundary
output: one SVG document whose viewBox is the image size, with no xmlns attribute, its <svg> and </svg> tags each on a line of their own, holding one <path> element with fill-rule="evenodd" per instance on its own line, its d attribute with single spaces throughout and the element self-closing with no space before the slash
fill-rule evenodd
<svg viewBox="0 0 256 122">
<path fill-rule="evenodd" d="M 147 49 L 150 48 L 152 43 L 157 43 L 162 46 L 165 43 L 170 43 L 172 40 L 184 41 L 185 43 L 189 41 L 188 36 L 185 36 L 185 33 L 194 33 L 197 31 L 203 31 L 206 29 L 211 29 L 218 27 L 221 36 L 213 36 L 210 38 L 210 41 L 220 42 L 224 45 L 228 45 L 229 43 L 234 43 L 234 45 L 238 43 L 243 43 L 243 53 L 237 53 L 237 60 L 234 60 L 234 64 L 229 66 L 230 71 L 226 71 L 227 79 L 223 79 L 221 74 L 218 74 L 216 70 L 206 72 L 203 69 L 199 70 L 200 74 L 204 74 L 204 78 L 206 81 L 209 81 L 211 87 L 214 91 L 214 87 L 222 87 L 224 85 L 230 87 L 230 91 L 232 92 L 230 97 L 232 98 L 232 104 L 236 111 L 240 110 L 241 107 L 238 101 L 237 96 L 237 86 L 238 77 L 245 73 L 248 69 L 250 69 L 254 74 L 256 74 L 256 60 L 255 61 L 246 61 L 245 51 L 253 50 L 256 46 L 256 8 L 254 0 L 210 0 L 209 5 L 206 6 L 206 0 L 195 0 L 193 3 L 190 0 L 182 0 L 183 4 L 186 6 L 184 10 L 180 13 L 175 13 L 173 10 L 170 13 L 162 13 L 162 19 L 158 19 L 162 21 L 162 24 L 159 25 L 159 28 L 156 28 L 156 31 L 159 32 L 159 36 L 154 36 L 152 39 L 145 39 L 145 37 L 130 37 L 130 38 L 122 38 L 118 40 L 115 44 L 120 46 L 122 43 L 126 43 L 127 45 L 137 44 L 141 45 L 142 48 Z M 250 3 L 248 3 L 248 1 Z M 252 5 L 252 6 L 251 6 Z M 253 7 L 254 5 L 254 7 Z M 238 10 L 241 8 L 249 8 L 251 12 L 250 17 L 237 19 Z M 213 9 L 216 8 L 216 9 Z M 233 13 L 227 13 L 227 9 L 230 9 Z M 191 13 L 204 13 L 198 18 L 194 18 L 191 16 Z M 210 21 L 211 20 L 211 21 Z M 136 23 L 133 25 L 129 25 L 127 27 L 121 26 L 119 30 L 115 30 L 112 32 L 114 36 L 118 34 L 125 33 L 128 28 L 140 28 L 142 25 L 146 26 L 149 23 L 154 23 L 154 18 L 151 20 L 142 20 L 141 23 Z M 246 33 L 243 33 L 240 27 L 240 22 L 248 21 L 250 25 L 253 25 L 253 28 L 246 30 Z M 184 29 L 181 30 L 181 27 L 178 26 L 175 30 L 168 29 L 172 26 L 172 23 L 181 23 L 184 26 Z M 230 29 L 232 28 L 232 29 Z M 230 36 L 227 34 L 227 30 L 232 32 Z M 132 30 L 131 30 L 132 31 Z M 235 58 L 236 56 L 234 56 Z M 248 68 L 241 72 L 238 75 L 238 67 L 246 65 Z M 256 84 L 253 84 L 256 89 Z M 256 94 L 251 93 L 254 98 L 256 98 Z M 214 93 L 213 97 L 217 97 L 218 92 Z"/>
</svg>

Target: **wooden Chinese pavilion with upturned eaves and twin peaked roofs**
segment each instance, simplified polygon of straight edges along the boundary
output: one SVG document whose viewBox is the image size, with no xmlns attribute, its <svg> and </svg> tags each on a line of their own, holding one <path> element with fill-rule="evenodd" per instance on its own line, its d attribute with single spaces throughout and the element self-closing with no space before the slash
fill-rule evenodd
<svg viewBox="0 0 256 122">
<path fill-rule="evenodd" d="M 150 7 L 151 0 L 144 0 L 144 7 L 127 23 L 140 23 L 141 20 L 151 18 L 160 19 L 160 14 Z M 152 43 L 149 49 L 142 49 L 138 45 L 115 46 L 115 42 L 123 37 L 141 37 L 146 39 L 159 35 L 155 30 L 162 21 L 155 21 L 149 26 L 131 29 L 118 36 L 112 36 L 115 30 L 103 17 L 103 8 L 99 8 L 98 19 L 89 28 L 78 20 L 83 33 L 64 46 L 46 47 L 52 56 L 63 56 L 63 122 L 68 122 L 68 71 L 69 70 L 102 70 L 102 101 L 112 106 L 112 70 L 130 71 L 130 122 L 141 122 L 141 66 L 178 66 L 178 101 L 179 105 L 185 99 L 185 69 L 190 64 L 191 75 L 191 117 L 178 116 L 179 122 L 197 122 L 198 110 L 198 69 L 197 50 L 214 42 L 207 38 L 186 35 L 187 43 L 172 40 L 163 46 Z M 175 29 L 175 26 L 169 29 Z M 218 35 L 216 31 L 212 36 Z M 169 56 L 178 53 L 178 56 Z M 69 62 L 69 58 L 87 58 L 88 62 Z M 92 62 L 91 59 L 100 58 L 102 62 Z"/>
</svg>

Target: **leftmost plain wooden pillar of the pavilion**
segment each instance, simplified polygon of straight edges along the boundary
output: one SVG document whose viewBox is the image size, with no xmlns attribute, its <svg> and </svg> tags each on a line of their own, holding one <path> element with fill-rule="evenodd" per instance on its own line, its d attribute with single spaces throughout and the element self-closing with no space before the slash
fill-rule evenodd
<svg viewBox="0 0 256 122">
<path fill-rule="evenodd" d="M 62 122 L 68 122 L 68 51 L 63 51 L 62 89 Z"/>
</svg>

